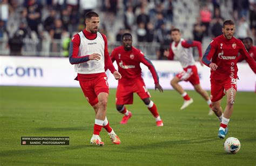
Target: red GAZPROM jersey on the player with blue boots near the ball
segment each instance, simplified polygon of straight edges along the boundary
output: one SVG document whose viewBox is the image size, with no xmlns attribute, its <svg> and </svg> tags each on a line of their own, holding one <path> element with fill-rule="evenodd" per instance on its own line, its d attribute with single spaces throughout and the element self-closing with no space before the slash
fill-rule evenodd
<svg viewBox="0 0 256 166">
<path fill-rule="evenodd" d="M 256 73 L 254 59 L 247 52 L 241 40 L 234 37 L 228 40 L 224 35 L 219 35 L 213 39 L 203 57 L 203 63 L 206 66 L 209 66 L 210 63 L 215 63 L 218 66 L 217 70 L 211 70 L 211 78 L 215 80 L 223 80 L 229 77 L 237 78 L 238 53 L 244 57 L 254 73 Z"/>
</svg>

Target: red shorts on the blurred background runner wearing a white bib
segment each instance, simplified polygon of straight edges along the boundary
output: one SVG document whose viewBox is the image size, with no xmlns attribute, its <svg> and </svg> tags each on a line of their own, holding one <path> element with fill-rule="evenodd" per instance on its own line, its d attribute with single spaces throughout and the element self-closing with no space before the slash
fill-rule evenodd
<svg viewBox="0 0 256 166">
<path fill-rule="evenodd" d="M 189 81 L 192 85 L 200 84 L 197 67 L 195 65 L 184 68 L 176 77 L 182 81 Z"/>
</svg>

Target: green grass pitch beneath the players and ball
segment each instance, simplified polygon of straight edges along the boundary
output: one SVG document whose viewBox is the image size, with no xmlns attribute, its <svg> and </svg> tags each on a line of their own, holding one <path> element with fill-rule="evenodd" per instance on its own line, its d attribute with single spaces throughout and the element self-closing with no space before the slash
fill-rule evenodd
<svg viewBox="0 0 256 166">
<path fill-rule="evenodd" d="M 176 91 L 150 90 L 164 121 L 164 127 L 156 127 L 136 94 L 133 105 L 126 106 L 133 117 L 119 125 L 122 114 L 115 109 L 116 90 L 111 89 L 107 118 L 121 144 L 111 143 L 103 129 L 105 146 L 97 147 L 90 144 L 95 113 L 79 88 L 0 86 L 0 164 L 254 165 L 255 93 L 237 93 L 226 138 L 238 138 L 241 149 L 228 155 L 225 140 L 217 138 L 218 119 L 207 116 L 198 93 L 187 92 L 194 103 L 180 111 L 183 99 Z M 21 136 L 70 136 L 70 145 L 21 146 Z"/>
</svg>

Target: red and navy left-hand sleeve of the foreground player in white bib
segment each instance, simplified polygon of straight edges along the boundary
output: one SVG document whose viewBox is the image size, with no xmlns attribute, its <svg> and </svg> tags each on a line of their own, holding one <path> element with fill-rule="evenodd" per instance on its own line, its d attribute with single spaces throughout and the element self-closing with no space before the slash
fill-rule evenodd
<svg viewBox="0 0 256 166">
<path fill-rule="evenodd" d="M 83 63 L 83 62 L 89 61 L 89 55 L 77 56 L 79 46 L 80 46 L 80 36 L 79 36 L 79 34 L 76 34 L 70 42 L 69 62 L 71 64 L 78 64 L 78 63 Z"/>
</svg>

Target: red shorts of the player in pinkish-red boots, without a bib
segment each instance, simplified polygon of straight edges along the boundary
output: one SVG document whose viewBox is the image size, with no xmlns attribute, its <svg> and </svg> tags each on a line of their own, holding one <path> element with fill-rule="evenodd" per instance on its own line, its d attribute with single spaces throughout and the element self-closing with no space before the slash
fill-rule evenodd
<svg viewBox="0 0 256 166">
<path fill-rule="evenodd" d="M 146 89 L 146 85 L 142 78 L 132 82 L 132 83 L 118 83 L 117 94 L 116 94 L 116 104 L 132 104 L 133 103 L 133 93 L 137 93 L 141 99 L 149 98 L 150 93 Z"/>
</svg>

